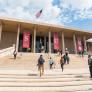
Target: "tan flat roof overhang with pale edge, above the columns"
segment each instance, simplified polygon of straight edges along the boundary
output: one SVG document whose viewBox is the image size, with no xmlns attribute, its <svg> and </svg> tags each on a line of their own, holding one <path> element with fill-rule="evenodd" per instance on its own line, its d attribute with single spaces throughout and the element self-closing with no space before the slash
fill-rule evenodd
<svg viewBox="0 0 92 92">
<path fill-rule="evenodd" d="M 18 26 L 21 25 L 22 28 L 27 28 L 27 29 L 34 29 L 37 28 L 37 30 L 51 30 L 52 32 L 65 32 L 65 33 L 76 33 L 76 34 L 86 34 L 92 36 L 92 32 L 90 31 L 85 31 L 85 30 L 80 30 L 80 29 L 74 29 L 74 28 L 69 28 L 61 25 L 53 25 L 53 24 L 47 24 L 47 23 L 41 23 L 41 22 L 33 22 L 33 21 L 24 21 L 20 19 L 10 19 L 10 18 L 0 18 L 0 21 L 2 24 L 5 25 L 12 25 L 12 26 Z"/>
</svg>

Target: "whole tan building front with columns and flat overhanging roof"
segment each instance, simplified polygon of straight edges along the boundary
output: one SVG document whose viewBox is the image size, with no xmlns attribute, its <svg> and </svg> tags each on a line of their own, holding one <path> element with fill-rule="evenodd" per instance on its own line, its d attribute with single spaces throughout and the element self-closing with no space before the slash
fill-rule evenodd
<svg viewBox="0 0 92 92">
<path fill-rule="evenodd" d="M 24 35 L 28 33 L 29 47 L 24 47 Z M 29 21 L 14 19 L 0 19 L 0 49 L 11 47 L 15 44 L 18 52 L 39 53 L 43 47 L 45 53 L 55 53 L 54 34 L 59 39 L 59 50 L 70 53 L 78 53 L 78 39 L 81 40 L 82 48 L 90 49 L 86 40 L 92 37 L 92 32 L 81 31 L 72 28 L 65 28 L 59 25 L 48 25 Z"/>
</svg>

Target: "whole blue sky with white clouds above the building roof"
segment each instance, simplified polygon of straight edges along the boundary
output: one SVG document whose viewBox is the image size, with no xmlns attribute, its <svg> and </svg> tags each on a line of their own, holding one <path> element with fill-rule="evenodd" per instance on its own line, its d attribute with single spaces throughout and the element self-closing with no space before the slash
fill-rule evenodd
<svg viewBox="0 0 92 92">
<path fill-rule="evenodd" d="M 0 0 L 0 17 L 92 31 L 92 0 Z"/>
</svg>

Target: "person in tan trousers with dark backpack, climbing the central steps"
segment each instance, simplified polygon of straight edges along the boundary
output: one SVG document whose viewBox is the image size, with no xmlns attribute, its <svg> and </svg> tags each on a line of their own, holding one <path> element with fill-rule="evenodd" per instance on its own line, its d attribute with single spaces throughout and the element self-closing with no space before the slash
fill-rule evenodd
<svg viewBox="0 0 92 92">
<path fill-rule="evenodd" d="M 44 74 L 44 62 L 43 56 L 40 55 L 38 59 L 38 70 L 40 71 L 40 77 Z"/>
</svg>

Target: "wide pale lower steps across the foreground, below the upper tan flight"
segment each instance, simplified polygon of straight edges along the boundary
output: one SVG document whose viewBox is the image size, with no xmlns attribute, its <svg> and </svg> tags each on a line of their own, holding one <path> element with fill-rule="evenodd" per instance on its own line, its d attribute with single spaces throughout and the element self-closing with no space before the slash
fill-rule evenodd
<svg viewBox="0 0 92 92">
<path fill-rule="evenodd" d="M 0 70 L 0 92 L 92 92 L 87 69 Z"/>
</svg>

